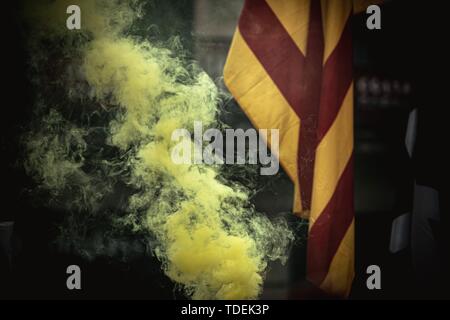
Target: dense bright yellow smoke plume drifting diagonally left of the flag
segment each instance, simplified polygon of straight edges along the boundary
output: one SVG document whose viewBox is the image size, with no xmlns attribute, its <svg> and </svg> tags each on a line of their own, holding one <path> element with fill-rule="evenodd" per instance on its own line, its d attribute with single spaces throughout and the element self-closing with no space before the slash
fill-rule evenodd
<svg viewBox="0 0 450 320">
<path fill-rule="evenodd" d="M 69 36 L 61 29 L 65 8 L 72 2 L 35 7 L 33 19 L 43 24 L 42 29 L 56 28 L 59 36 Z M 245 188 L 223 182 L 217 167 L 177 165 L 171 160 L 173 130 L 190 129 L 194 121 L 204 126 L 216 123 L 217 87 L 204 72 L 189 72 L 170 50 L 126 36 L 124 30 L 139 16 L 136 1 L 77 3 L 82 32 L 89 39 L 76 47 L 89 87 L 86 95 L 102 106 L 99 112 L 117 113 L 105 143 L 127 155 L 119 163 L 130 168 L 126 182 L 139 189 L 129 199 L 127 219 L 156 237 L 152 249 L 165 274 L 188 296 L 257 298 L 267 261 L 285 258 L 292 233 L 285 224 L 253 212 Z M 48 134 L 43 135 L 28 141 L 27 163 L 35 168 L 29 172 L 41 183 L 55 180 L 46 187 L 60 189 L 73 177 L 72 171 L 82 172 L 83 160 L 68 156 L 67 148 L 61 148 L 67 144 L 61 135 L 53 144 L 46 142 Z M 77 138 L 83 140 L 83 134 Z M 58 161 L 49 165 L 48 157 L 55 154 Z M 136 213 L 142 210 L 141 221 Z"/>
</svg>

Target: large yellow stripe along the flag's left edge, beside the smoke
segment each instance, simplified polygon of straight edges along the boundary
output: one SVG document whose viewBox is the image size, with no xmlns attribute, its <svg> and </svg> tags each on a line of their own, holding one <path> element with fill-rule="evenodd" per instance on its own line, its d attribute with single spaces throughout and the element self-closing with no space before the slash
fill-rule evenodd
<svg viewBox="0 0 450 320">
<path fill-rule="evenodd" d="M 279 160 L 297 180 L 297 146 L 300 119 L 267 75 L 239 30 L 236 31 L 224 69 L 224 80 L 236 101 L 256 128 L 279 129 Z"/>
</svg>

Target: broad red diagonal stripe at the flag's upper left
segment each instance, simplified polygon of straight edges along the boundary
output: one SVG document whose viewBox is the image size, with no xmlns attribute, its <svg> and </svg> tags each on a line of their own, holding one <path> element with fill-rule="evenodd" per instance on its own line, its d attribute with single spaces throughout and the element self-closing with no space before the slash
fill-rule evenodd
<svg viewBox="0 0 450 320">
<path fill-rule="evenodd" d="M 265 1 L 245 1 L 239 30 L 285 99 L 300 116 L 304 56 Z M 268 103 L 270 103 L 268 101 Z"/>
</svg>

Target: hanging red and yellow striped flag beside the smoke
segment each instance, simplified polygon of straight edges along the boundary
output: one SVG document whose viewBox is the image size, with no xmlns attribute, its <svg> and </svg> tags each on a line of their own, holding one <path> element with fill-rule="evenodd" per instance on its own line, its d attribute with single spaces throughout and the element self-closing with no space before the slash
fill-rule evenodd
<svg viewBox="0 0 450 320">
<path fill-rule="evenodd" d="M 225 83 L 279 160 L 309 218 L 307 278 L 347 296 L 354 277 L 351 0 L 246 0 Z"/>
</svg>

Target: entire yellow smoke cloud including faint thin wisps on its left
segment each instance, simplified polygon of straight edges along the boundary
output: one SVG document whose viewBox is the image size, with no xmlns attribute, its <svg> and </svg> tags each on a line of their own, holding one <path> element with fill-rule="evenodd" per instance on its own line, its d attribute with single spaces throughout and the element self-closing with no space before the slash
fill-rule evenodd
<svg viewBox="0 0 450 320">
<path fill-rule="evenodd" d="M 140 1 L 77 1 L 80 31 L 65 27 L 72 2 L 25 5 L 36 103 L 24 166 L 35 194 L 64 212 L 60 247 L 114 256 L 133 235 L 130 247 L 140 239 L 188 297 L 257 298 L 291 230 L 218 167 L 171 160 L 173 130 L 220 127 L 223 93 L 177 41 L 131 33 Z"/>
</svg>

